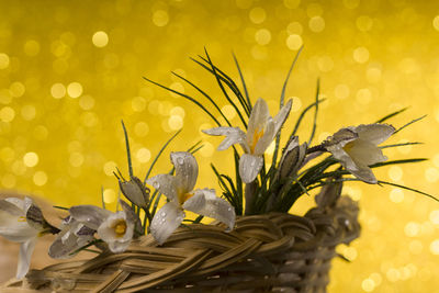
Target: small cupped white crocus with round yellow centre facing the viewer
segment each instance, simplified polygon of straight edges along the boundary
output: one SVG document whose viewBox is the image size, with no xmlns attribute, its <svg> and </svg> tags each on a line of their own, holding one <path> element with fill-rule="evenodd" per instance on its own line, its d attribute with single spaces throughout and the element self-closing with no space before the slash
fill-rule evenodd
<svg viewBox="0 0 439 293">
<path fill-rule="evenodd" d="M 120 201 L 123 211 L 112 213 L 94 205 L 70 207 L 70 215 L 79 223 L 98 232 L 99 237 L 109 245 L 114 253 L 126 250 L 133 236 L 137 217 L 124 201 Z"/>
</svg>

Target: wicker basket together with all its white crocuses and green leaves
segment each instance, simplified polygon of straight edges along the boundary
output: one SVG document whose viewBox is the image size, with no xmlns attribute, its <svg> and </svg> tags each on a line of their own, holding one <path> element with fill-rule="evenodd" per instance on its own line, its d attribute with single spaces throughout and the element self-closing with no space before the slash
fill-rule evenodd
<svg viewBox="0 0 439 293">
<path fill-rule="evenodd" d="M 390 184 L 437 199 L 378 180 L 372 172 L 373 168 L 386 165 L 425 160 L 387 160 L 383 155 L 384 148 L 417 144 L 381 145 L 417 121 L 399 128 L 385 123 L 402 111 L 375 123 L 344 127 L 312 146 L 318 106 L 323 102 L 317 82 L 315 101 L 299 115 L 286 143 L 281 145 L 282 126 L 292 108 L 292 100 L 284 99 L 285 88 L 296 58 L 283 83 L 280 110 L 274 116 L 270 115 L 263 99 L 251 102 L 236 58 L 244 93 L 212 63 L 207 52 L 194 59 L 214 77 L 224 98 L 237 112 L 243 128 L 227 119 L 217 100 L 184 77 L 173 72 L 192 87 L 204 103 L 145 78 L 193 102 L 216 124 L 203 132 L 224 136 L 218 150 L 232 148 L 234 162 L 233 174 L 223 173 L 211 165 L 221 194 L 211 187 L 195 189 L 199 174 L 195 153 L 202 147 L 200 143 L 185 151 L 170 153 L 171 170 L 150 177 L 156 161 L 178 133 L 164 145 L 145 180 L 140 180 L 132 168 L 128 135 L 123 125 L 128 174 L 123 176 L 119 169 L 114 172 L 125 198 L 119 201 L 116 212 L 105 206 L 76 205 L 65 209 L 61 226 L 54 227 L 30 198 L 0 201 L 0 235 L 21 243 L 16 279 L 4 286 L 4 292 L 325 291 L 330 260 L 337 256 L 335 247 L 349 244 L 360 233 L 357 203 L 341 196 L 345 181 Z M 211 108 L 217 113 L 209 110 Z M 304 115 L 312 110 L 312 134 L 301 144 L 296 132 Z M 269 161 L 264 153 L 273 140 L 275 147 Z M 289 214 L 297 199 L 318 188 L 315 207 L 304 216 Z M 159 207 L 162 195 L 166 203 Z M 185 211 L 200 216 L 185 218 Z M 203 224 L 203 217 L 215 222 Z M 53 258 L 70 258 L 92 246 L 98 250 L 91 251 L 98 255 L 29 272 L 35 241 L 45 234 L 57 235 L 48 248 Z"/>
</svg>

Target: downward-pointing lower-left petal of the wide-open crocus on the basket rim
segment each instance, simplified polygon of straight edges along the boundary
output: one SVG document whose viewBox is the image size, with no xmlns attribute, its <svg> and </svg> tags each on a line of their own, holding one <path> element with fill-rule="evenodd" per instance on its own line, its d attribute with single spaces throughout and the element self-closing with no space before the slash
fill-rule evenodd
<svg viewBox="0 0 439 293">
<path fill-rule="evenodd" d="M 166 239 L 180 226 L 184 212 L 175 202 L 168 202 L 154 216 L 149 226 L 154 238 L 162 245 Z"/>
</svg>

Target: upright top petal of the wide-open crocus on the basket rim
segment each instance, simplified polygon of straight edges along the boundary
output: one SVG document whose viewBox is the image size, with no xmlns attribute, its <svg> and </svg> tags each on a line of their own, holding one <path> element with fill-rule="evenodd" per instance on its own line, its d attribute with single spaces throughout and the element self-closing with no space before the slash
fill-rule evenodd
<svg viewBox="0 0 439 293">
<path fill-rule="evenodd" d="M 199 165 L 195 157 L 188 151 L 171 153 L 171 161 L 176 168 L 176 179 L 178 189 L 181 192 L 193 190 L 199 177 Z"/>
</svg>

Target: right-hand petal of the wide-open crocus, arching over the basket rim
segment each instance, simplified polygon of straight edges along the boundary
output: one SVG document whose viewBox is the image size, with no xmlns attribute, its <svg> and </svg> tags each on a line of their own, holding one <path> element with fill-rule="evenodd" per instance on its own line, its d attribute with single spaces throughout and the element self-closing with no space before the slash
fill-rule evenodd
<svg viewBox="0 0 439 293">
<path fill-rule="evenodd" d="M 232 230 L 235 225 L 235 209 L 227 201 L 217 198 L 213 189 L 194 192 L 195 194 L 184 202 L 183 209 L 223 222 L 227 225 L 227 230 Z"/>
</svg>

